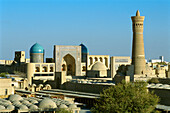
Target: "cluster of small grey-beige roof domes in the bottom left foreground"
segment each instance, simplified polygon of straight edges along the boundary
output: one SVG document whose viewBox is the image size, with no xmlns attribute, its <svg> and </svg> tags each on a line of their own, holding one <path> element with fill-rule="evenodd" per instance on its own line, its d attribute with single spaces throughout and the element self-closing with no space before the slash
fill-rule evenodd
<svg viewBox="0 0 170 113">
<path fill-rule="evenodd" d="M 76 109 L 77 106 L 69 101 L 56 98 L 34 98 L 34 97 L 21 97 L 20 95 L 10 95 L 7 100 L 0 99 L 0 110 L 31 110 L 38 109 L 55 109 L 55 108 L 69 108 Z"/>
</svg>

